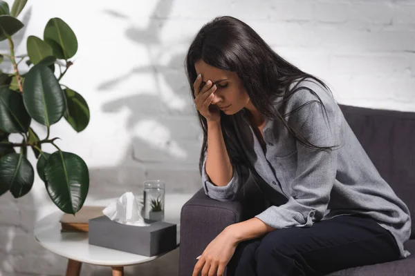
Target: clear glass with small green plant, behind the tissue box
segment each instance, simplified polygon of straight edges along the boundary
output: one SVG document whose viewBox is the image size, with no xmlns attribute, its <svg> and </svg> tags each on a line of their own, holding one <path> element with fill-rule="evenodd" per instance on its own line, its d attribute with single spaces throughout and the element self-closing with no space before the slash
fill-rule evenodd
<svg viewBox="0 0 415 276">
<path fill-rule="evenodd" d="M 142 217 L 151 220 L 164 220 L 165 183 L 161 180 L 144 181 L 143 201 L 144 214 Z"/>
</svg>

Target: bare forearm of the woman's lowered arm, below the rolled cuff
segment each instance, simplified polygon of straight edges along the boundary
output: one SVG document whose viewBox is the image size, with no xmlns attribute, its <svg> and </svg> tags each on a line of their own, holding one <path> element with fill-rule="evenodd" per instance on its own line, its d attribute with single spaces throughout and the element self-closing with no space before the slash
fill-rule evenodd
<svg viewBox="0 0 415 276">
<path fill-rule="evenodd" d="M 232 224 L 228 226 L 226 230 L 232 233 L 232 235 L 234 235 L 234 240 L 239 243 L 248 239 L 261 237 L 266 233 L 275 230 L 275 228 L 268 226 L 268 224 L 265 224 L 261 219 L 253 217 L 252 219 Z"/>
</svg>

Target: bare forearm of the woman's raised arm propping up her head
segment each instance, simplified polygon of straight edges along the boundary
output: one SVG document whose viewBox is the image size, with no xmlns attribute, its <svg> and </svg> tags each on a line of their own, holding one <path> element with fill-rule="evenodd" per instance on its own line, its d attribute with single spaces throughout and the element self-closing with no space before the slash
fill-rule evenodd
<svg viewBox="0 0 415 276">
<path fill-rule="evenodd" d="M 232 179 L 233 170 L 220 122 L 208 122 L 208 152 L 206 173 L 216 186 L 225 186 Z"/>
</svg>

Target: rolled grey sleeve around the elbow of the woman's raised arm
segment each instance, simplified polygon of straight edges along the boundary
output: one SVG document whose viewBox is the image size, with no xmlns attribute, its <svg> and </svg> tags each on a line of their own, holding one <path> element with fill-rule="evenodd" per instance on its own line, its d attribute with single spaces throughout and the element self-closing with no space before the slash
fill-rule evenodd
<svg viewBox="0 0 415 276">
<path fill-rule="evenodd" d="M 246 166 L 242 166 L 241 164 L 234 164 L 232 166 L 232 179 L 230 179 L 229 183 L 225 186 L 216 186 L 212 183 L 208 174 L 206 173 L 206 159 L 207 155 L 205 155 L 202 166 L 202 181 L 205 194 L 208 195 L 208 197 L 219 201 L 234 200 L 239 189 L 246 182 L 246 179 L 248 179 L 248 168 L 246 168 Z"/>
</svg>

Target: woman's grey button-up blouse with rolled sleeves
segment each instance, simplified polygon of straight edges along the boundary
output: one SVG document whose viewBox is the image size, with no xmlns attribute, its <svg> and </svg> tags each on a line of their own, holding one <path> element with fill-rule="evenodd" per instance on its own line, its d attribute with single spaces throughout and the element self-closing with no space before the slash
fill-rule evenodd
<svg viewBox="0 0 415 276">
<path fill-rule="evenodd" d="M 302 81 L 299 87 L 303 88 L 279 108 L 280 112 L 284 114 L 315 101 L 315 96 L 307 90 L 311 88 L 324 103 L 326 113 L 320 103 L 313 102 L 286 120 L 312 144 L 336 146 L 334 150 L 306 148 L 279 120 L 272 119 L 266 119 L 263 148 L 243 114 L 245 110 L 230 115 L 237 133 L 228 134 L 232 145 L 228 150 L 244 150 L 258 175 L 287 199 L 284 204 L 272 205 L 255 217 L 280 229 L 308 227 L 315 221 L 337 215 L 369 215 L 394 235 L 401 257 L 407 257 L 410 253 L 403 248 L 411 233 L 407 206 L 382 179 L 331 94 L 313 79 Z M 276 100 L 273 102 L 278 104 Z M 230 182 L 216 186 L 206 174 L 205 161 L 202 181 L 206 195 L 219 201 L 234 200 L 250 175 L 249 168 L 234 164 Z"/>
</svg>

